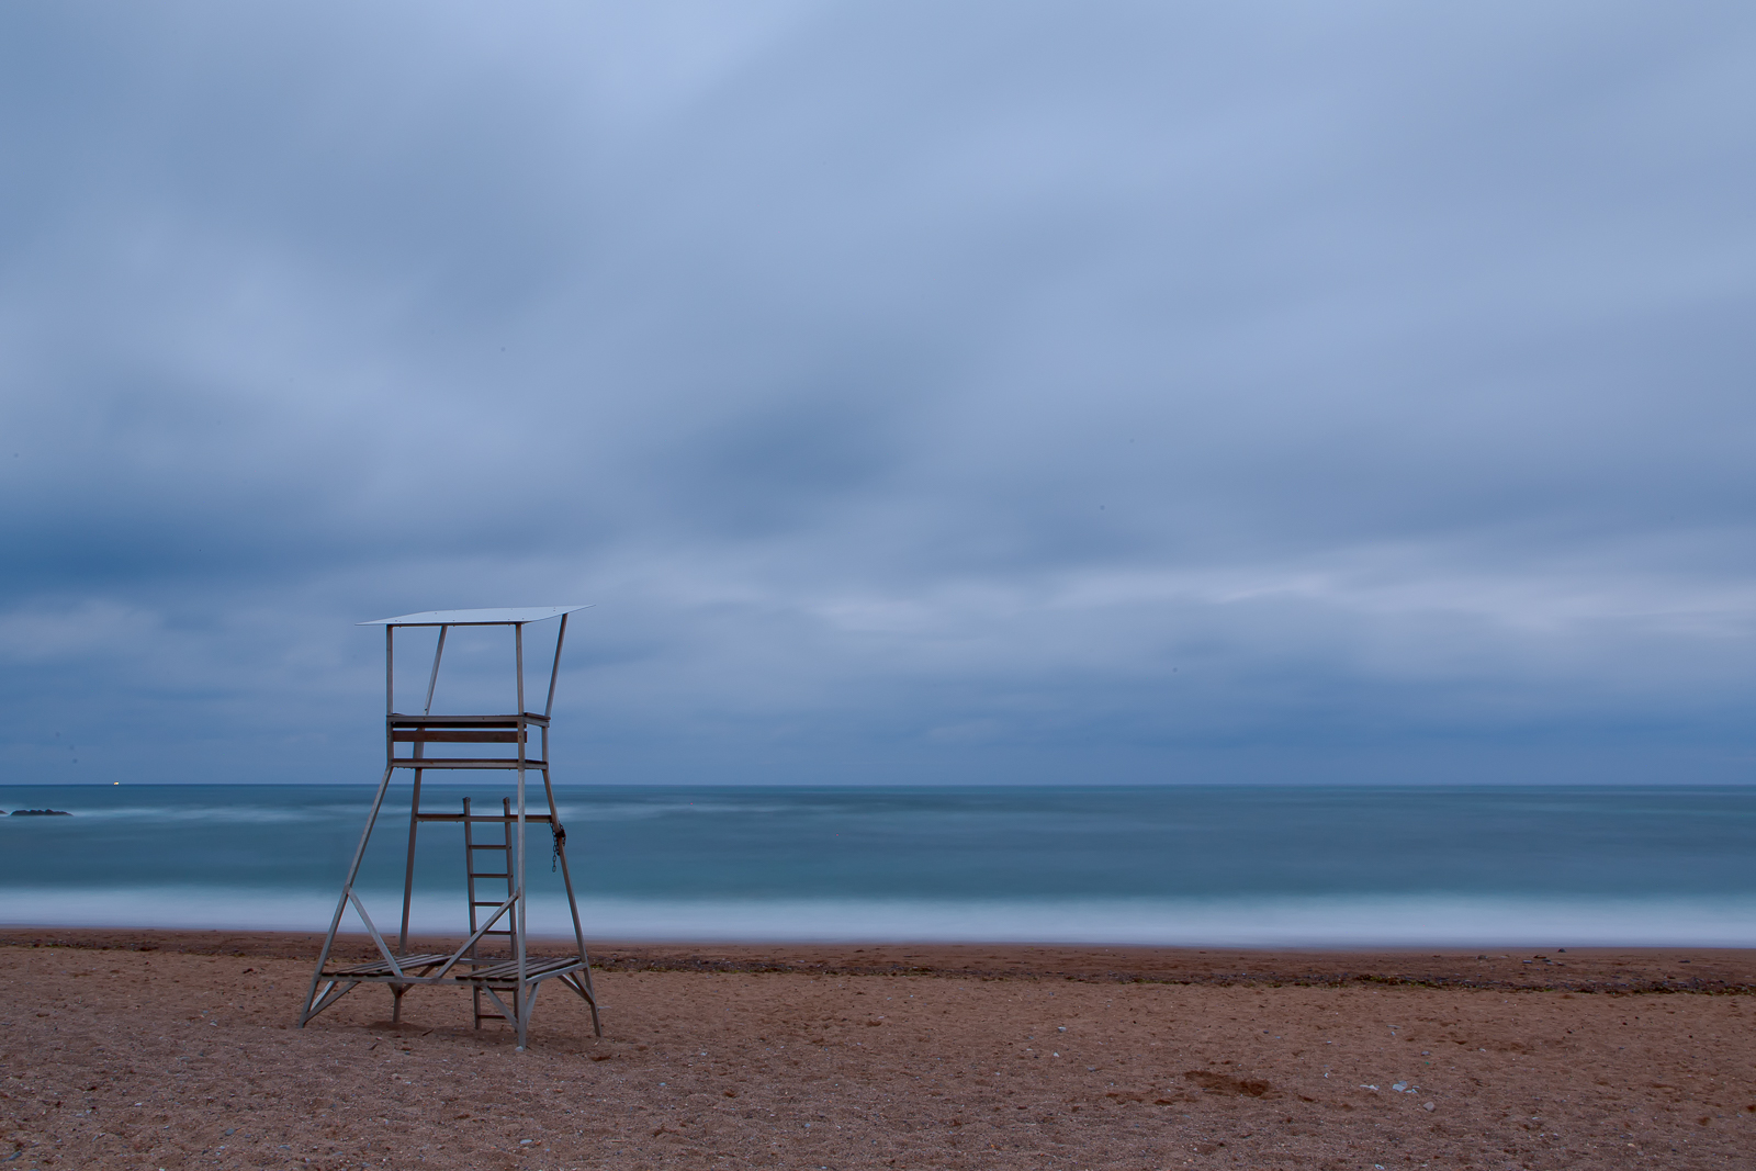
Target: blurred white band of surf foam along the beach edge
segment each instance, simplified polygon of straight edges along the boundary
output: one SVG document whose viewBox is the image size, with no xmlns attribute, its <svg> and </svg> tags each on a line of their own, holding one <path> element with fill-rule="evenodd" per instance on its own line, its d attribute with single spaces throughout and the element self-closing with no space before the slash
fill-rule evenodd
<svg viewBox="0 0 1756 1171">
<path fill-rule="evenodd" d="M 362 892 L 379 930 L 399 892 Z M 11 890 L 0 923 L 323 930 L 335 894 L 207 887 Z M 1227 897 L 1227 899 L 581 899 L 599 939 L 1089 943 L 1162 946 L 1756 946 L 1756 897 Z M 457 934 L 450 901 L 420 899 L 418 932 Z M 360 930 L 353 909 L 346 930 Z M 565 902 L 532 897 L 530 930 L 572 934 Z"/>
</svg>

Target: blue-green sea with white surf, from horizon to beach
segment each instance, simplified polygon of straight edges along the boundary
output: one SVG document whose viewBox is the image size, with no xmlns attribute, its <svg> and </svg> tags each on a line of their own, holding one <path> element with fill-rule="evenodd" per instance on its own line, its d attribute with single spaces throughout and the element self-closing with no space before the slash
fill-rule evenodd
<svg viewBox="0 0 1756 1171">
<path fill-rule="evenodd" d="M 423 808 L 509 792 L 428 783 Z M 0 787 L 4 809 L 74 813 L 0 818 L 0 922 L 321 929 L 371 795 Z M 386 930 L 407 799 L 392 787 L 360 881 Z M 562 787 L 557 801 L 587 934 L 609 939 L 1756 946 L 1756 788 Z M 548 830 L 529 834 L 532 929 L 569 932 Z M 423 825 L 416 866 L 416 930 L 458 930 L 462 830 Z"/>
</svg>

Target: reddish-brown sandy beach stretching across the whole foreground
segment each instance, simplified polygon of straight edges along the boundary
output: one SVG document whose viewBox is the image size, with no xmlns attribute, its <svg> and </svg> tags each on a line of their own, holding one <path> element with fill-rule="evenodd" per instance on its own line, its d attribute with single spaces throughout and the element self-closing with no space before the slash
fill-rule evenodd
<svg viewBox="0 0 1756 1171">
<path fill-rule="evenodd" d="M 0 1171 L 1756 1167 L 1747 952 L 606 945 L 525 1053 L 314 952 L 0 932 Z"/>
</svg>

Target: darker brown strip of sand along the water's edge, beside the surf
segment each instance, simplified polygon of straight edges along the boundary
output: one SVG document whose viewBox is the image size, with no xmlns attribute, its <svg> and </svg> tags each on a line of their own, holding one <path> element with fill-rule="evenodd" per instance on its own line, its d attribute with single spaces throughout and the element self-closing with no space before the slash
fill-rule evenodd
<svg viewBox="0 0 1756 1171">
<path fill-rule="evenodd" d="M 462 936 L 414 936 L 416 952 L 450 952 Z M 0 927 L 0 946 L 165 952 L 316 960 L 321 932 Z M 337 955 L 376 957 L 362 932 Z M 532 938 L 536 953 L 571 939 Z M 1045 943 L 701 943 L 587 939 L 594 971 L 811 976 L 939 976 L 1082 983 L 1503 988 L 1515 992 L 1756 994 L 1756 948 L 1159 948 Z"/>
</svg>

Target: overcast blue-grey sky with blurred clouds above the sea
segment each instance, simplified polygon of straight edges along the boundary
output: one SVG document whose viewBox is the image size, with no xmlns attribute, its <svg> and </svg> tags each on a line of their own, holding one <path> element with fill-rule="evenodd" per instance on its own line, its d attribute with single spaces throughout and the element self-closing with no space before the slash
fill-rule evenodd
<svg viewBox="0 0 1756 1171">
<path fill-rule="evenodd" d="M 562 602 L 560 779 L 1756 779 L 1752 61 L 5 5 L 4 779 L 374 781 L 355 621 Z"/>
</svg>

